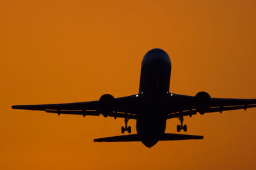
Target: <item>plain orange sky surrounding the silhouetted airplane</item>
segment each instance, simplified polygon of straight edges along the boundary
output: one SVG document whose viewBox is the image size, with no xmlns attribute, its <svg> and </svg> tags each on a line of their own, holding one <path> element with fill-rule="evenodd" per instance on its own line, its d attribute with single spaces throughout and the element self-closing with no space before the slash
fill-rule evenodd
<svg viewBox="0 0 256 170">
<path fill-rule="evenodd" d="M 256 109 L 186 117 L 202 141 L 93 143 L 124 120 L 12 104 L 138 93 L 143 55 L 172 60 L 173 93 L 256 98 L 255 1 L 1 1 L 0 169 L 255 169 Z M 176 132 L 179 120 L 168 120 Z M 135 121 L 129 121 L 132 132 Z"/>
</svg>

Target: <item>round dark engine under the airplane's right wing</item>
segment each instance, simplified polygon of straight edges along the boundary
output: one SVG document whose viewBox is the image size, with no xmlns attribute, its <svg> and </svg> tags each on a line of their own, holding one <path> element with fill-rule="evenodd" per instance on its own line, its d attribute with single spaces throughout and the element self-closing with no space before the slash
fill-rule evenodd
<svg viewBox="0 0 256 170">
<path fill-rule="evenodd" d="M 211 96 L 209 93 L 206 93 L 205 91 L 198 92 L 195 96 L 196 111 L 198 111 L 200 114 L 205 114 L 210 107 L 210 100 Z"/>
</svg>

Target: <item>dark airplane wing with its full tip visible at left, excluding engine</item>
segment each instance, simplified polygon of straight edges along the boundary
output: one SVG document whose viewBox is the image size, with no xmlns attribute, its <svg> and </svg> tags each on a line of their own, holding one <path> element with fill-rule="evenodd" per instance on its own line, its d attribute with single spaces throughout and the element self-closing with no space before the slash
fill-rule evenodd
<svg viewBox="0 0 256 170">
<path fill-rule="evenodd" d="M 110 117 L 136 119 L 138 107 L 138 97 L 115 98 L 114 112 Z M 52 112 L 60 114 L 77 114 L 83 116 L 100 116 L 99 101 L 77 102 L 69 104 L 41 104 L 41 105 L 12 105 L 12 109 L 25 109 L 33 111 Z"/>
</svg>

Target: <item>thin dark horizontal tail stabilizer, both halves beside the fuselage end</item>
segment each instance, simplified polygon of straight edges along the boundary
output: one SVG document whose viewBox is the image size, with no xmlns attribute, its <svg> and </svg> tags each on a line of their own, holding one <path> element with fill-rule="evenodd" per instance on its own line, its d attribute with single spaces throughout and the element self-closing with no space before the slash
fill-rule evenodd
<svg viewBox="0 0 256 170">
<path fill-rule="evenodd" d="M 189 139 L 204 139 L 202 135 L 183 135 L 183 134 L 164 134 L 159 138 L 159 141 L 177 141 L 177 140 L 189 140 Z M 132 135 L 118 135 L 113 137 L 104 137 L 94 139 L 94 142 L 136 142 L 141 141 L 138 134 Z"/>
</svg>

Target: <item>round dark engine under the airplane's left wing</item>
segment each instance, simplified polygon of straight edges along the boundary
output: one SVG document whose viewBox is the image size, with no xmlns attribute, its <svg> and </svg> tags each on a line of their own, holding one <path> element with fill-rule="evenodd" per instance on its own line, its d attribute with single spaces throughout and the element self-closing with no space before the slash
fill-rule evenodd
<svg viewBox="0 0 256 170">
<path fill-rule="evenodd" d="M 112 95 L 102 95 L 99 100 L 99 113 L 104 117 L 108 117 L 114 111 L 115 98 Z"/>
</svg>

